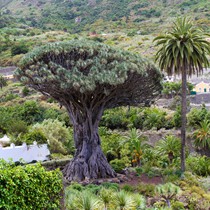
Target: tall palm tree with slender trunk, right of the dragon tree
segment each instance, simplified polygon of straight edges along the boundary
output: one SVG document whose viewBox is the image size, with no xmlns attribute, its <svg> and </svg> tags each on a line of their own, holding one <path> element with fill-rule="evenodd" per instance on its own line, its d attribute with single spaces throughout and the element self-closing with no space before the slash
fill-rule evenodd
<svg viewBox="0 0 210 210">
<path fill-rule="evenodd" d="M 210 43 L 202 30 L 195 28 L 187 18 L 178 18 L 170 32 L 157 36 L 154 41 L 160 47 L 156 53 L 160 69 L 169 75 L 182 75 L 181 171 L 184 172 L 187 75 L 202 73 L 203 68 L 209 66 Z"/>
</svg>

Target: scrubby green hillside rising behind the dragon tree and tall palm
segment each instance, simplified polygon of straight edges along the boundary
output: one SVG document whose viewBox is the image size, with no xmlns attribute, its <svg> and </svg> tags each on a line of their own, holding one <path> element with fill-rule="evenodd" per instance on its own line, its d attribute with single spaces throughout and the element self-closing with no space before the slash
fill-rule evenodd
<svg viewBox="0 0 210 210">
<path fill-rule="evenodd" d="M 0 0 L 0 66 L 46 42 L 80 37 L 153 59 L 153 38 L 180 16 L 210 32 L 208 0 Z"/>
</svg>

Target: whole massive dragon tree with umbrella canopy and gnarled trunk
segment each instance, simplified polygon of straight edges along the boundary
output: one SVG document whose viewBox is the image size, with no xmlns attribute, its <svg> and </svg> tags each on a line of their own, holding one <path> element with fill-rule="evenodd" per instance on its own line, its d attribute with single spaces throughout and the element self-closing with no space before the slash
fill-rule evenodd
<svg viewBox="0 0 210 210">
<path fill-rule="evenodd" d="M 76 148 L 63 170 L 70 181 L 116 176 L 100 146 L 103 111 L 150 103 L 160 93 L 162 78 L 139 55 L 86 40 L 36 48 L 20 61 L 16 75 L 66 107 Z"/>
</svg>

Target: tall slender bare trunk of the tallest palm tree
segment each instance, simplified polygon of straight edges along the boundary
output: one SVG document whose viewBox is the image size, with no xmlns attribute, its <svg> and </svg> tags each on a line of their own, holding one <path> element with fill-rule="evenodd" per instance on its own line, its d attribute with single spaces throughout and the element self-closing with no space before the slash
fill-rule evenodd
<svg viewBox="0 0 210 210">
<path fill-rule="evenodd" d="M 185 142 L 186 142 L 186 114 L 187 114 L 187 68 L 182 69 L 182 107 L 181 107 L 181 171 L 185 171 Z"/>
</svg>

